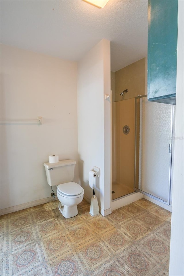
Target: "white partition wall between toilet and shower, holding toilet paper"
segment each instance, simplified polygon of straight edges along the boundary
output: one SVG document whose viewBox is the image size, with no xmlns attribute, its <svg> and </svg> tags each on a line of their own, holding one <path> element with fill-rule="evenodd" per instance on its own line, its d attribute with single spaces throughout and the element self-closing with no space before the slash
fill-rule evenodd
<svg viewBox="0 0 184 276">
<path fill-rule="evenodd" d="M 90 202 L 89 171 L 101 170 L 94 179 L 100 211 L 110 210 L 110 41 L 101 40 L 78 62 L 78 158 L 79 182 Z M 104 198 L 106 200 L 104 200 Z"/>
</svg>

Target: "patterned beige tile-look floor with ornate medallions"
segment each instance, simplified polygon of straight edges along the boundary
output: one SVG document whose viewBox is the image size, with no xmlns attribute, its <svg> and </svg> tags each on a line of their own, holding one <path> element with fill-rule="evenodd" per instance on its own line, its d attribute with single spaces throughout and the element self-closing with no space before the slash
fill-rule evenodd
<svg viewBox="0 0 184 276">
<path fill-rule="evenodd" d="M 0 275 L 168 275 L 169 211 L 145 199 L 106 217 L 89 209 L 66 219 L 54 201 L 1 216 Z"/>
</svg>

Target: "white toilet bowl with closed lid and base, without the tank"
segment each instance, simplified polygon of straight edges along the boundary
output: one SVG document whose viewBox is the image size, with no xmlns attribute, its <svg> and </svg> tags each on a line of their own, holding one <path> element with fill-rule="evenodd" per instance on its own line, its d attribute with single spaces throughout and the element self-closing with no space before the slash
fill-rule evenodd
<svg viewBox="0 0 184 276">
<path fill-rule="evenodd" d="M 84 189 L 75 182 L 63 183 L 57 186 L 58 208 L 65 218 L 78 214 L 77 205 L 82 202 Z"/>
</svg>

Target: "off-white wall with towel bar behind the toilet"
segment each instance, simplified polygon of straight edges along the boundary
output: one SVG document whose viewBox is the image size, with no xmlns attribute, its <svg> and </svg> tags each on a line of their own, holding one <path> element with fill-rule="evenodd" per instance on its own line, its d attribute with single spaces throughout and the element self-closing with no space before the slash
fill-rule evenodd
<svg viewBox="0 0 184 276">
<path fill-rule="evenodd" d="M 43 124 L 1 124 L 1 209 L 47 198 L 50 154 L 77 161 L 77 65 L 1 45 L 1 120 L 43 117 Z"/>
</svg>

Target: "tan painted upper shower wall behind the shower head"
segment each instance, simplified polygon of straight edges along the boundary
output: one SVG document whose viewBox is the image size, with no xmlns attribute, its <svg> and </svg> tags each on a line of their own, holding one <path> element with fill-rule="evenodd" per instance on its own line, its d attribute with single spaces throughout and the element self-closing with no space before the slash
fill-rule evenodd
<svg viewBox="0 0 184 276">
<path fill-rule="evenodd" d="M 147 94 L 146 88 L 146 58 L 142 58 L 115 72 L 114 101 L 121 101 Z M 120 93 L 128 89 L 127 93 Z M 112 97 L 112 101 L 113 101 Z"/>
</svg>

